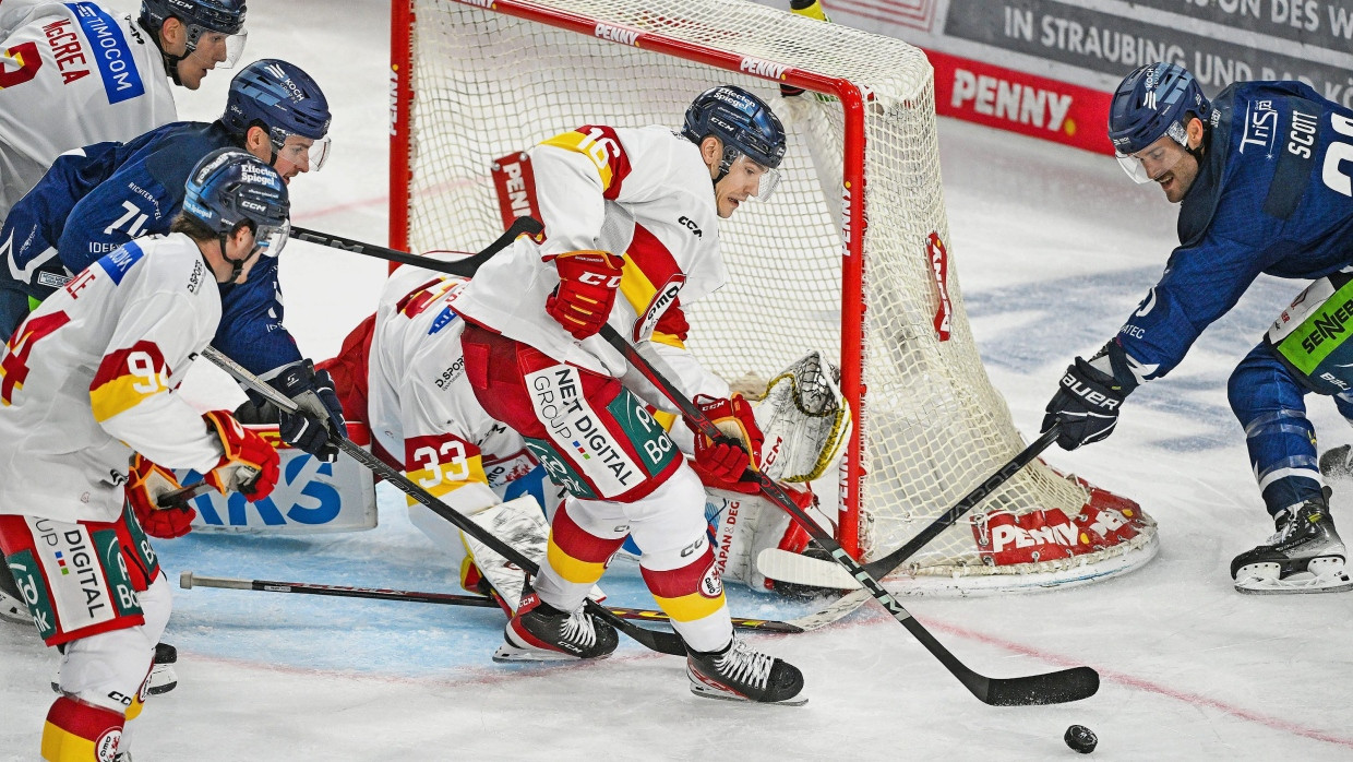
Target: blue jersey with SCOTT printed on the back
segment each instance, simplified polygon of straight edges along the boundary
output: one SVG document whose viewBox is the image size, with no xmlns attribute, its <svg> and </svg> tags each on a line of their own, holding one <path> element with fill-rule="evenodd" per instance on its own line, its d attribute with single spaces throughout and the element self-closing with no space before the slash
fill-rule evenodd
<svg viewBox="0 0 1353 762">
<path fill-rule="evenodd" d="M 1237 83 L 1212 106 L 1180 246 L 1119 329 L 1138 382 L 1174 368 L 1261 272 L 1316 279 L 1353 263 L 1353 110 L 1293 81 Z"/>
</svg>

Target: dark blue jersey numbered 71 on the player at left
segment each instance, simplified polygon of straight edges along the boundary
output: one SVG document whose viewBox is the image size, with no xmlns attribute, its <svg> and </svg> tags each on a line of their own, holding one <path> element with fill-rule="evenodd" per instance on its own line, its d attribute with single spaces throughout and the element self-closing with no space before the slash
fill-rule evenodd
<svg viewBox="0 0 1353 762">
<path fill-rule="evenodd" d="M 168 233 L 193 165 L 235 145 L 221 122 L 175 122 L 127 143 L 95 143 L 61 156 L 0 227 L 0 248 L 9 249 L 4 253 L 12 263 L 0 276 L 18 277 L 42 299 L 127 241 Z M 221 290 L 221 329 L 212 346 L 265 378 L 300 360 L 281 325 L 276 257 L 262 257 L 246 283 Z"/>
</svg>

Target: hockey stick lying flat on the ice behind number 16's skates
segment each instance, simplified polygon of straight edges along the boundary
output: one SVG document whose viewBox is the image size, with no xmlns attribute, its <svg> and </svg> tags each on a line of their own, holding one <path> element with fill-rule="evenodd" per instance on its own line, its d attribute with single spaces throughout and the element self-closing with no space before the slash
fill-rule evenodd
<svg viewBox="0 0 1353 762">
<path fill-rule="evenodd" d="M 406 604 L 440 604 L 444 606 L 474 606 L 499 609 L 497 601 L 484 596 L 461 596 L 456 593 L 419 593 L 415 590 L 391 590 L 388 587 L 350 587 L 348 585 L 315 585 L 310 582 L 273 582 L 271 579 L 233 579 L 230 577 L 206 577 L 184 571 L 179 575 L 179 586 L 223 587 L 227 590 L 258 590 L 264 593 L 300 593 L 306 596 L 333 596 L 337 598 L 373 598 L 376 601 L 400 601 Z M 633 609 L 628 606 L 606 606 L 621 619 L 641 621 L 670 621 L 664 612 L 656 609 Z M 766 619 L 733 617 L 733 627 L 760 632 L 804 632 L 789 621 Z"/>
</svg>

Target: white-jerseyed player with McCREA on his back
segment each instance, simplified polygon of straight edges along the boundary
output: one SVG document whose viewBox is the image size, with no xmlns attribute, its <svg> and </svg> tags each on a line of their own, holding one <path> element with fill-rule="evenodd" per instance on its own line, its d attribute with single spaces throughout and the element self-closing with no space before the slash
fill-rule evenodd
<svg viewBox="0 0 1353 762">
<path fill-rule="evenodd" d="M 0 222 L 57 156 L 130 141 L 177 119 L 172 87 L 198 89 L 245 43 L 242 0 L 0 3 Z M 166 79 L 168 74 L 168 79 Z"/>
</svg>

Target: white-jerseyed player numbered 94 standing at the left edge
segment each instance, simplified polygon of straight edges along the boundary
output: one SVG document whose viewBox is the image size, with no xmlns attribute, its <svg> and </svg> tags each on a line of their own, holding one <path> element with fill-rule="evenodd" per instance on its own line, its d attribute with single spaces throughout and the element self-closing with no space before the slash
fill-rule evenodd
<svg viewBox="0 0 1353 762">
<path fill-rule="evenodd" d="M 218 284 L 285 242 L 287 188 L 225 149 L 202 160 L 164 237 L 133 241 L 43 300 L 0 353 L 0 551 L 38 633 L 60 646 L 43 759 L 126 753 L 170 591 L 146 535 L 188 531 L 160 509 L 173 468 L 267 497 L 277 453 L 223 410 L 175 391 L 221 319 Z"/>
</svg>

